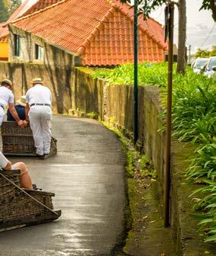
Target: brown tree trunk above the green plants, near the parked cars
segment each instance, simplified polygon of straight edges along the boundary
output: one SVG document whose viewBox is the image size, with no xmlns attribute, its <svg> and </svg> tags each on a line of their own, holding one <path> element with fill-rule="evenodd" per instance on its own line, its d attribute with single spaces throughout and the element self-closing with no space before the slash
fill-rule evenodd
<svg viewBox="0 0 216 256">
<path fill-rule="evenodd" d="M 177 72 L 185 73 L 186 69 L 186 0 L 179 0 L 179 40 Z"/>
</svg>

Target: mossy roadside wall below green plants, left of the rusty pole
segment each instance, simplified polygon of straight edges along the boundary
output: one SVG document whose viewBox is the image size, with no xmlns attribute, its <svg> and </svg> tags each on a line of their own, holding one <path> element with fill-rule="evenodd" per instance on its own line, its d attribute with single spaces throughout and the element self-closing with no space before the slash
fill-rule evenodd
<svg viewBox="0 0 216 256">
<path fill-rule="evenodd" d="M 109 85 L 106 87 L 105 120 L 116 123 L 126 134 L 133 134 L 133 88 L 132 85 Z M 160 117 L 159 90 L 146 86 L 138 88 L 138 144 L 164 184 L 164 145 L 163 120 Z"/>
</svg>

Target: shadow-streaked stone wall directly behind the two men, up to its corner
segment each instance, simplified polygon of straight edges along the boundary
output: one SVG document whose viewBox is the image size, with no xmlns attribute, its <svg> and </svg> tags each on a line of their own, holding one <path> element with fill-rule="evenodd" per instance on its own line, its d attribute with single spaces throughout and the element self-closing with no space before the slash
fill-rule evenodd
<svg viewBox="0 0 216 256">
<path fill-rule="evenodd" d="M 14 83 L 15 99 L 30 88 L 32 78 L 41 77 L 44 85 L 52 91 L 52 110 L 54 113 L 67 113 L 71 108 L 71 67 L 50 66 L 29 62 L 0 62 L 0 81 L 10 78 Z"/>
</svg>

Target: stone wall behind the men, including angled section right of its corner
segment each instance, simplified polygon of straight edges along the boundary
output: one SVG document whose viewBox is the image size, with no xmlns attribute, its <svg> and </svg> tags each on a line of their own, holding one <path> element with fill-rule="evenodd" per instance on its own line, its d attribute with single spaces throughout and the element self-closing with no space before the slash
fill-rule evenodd
<svg viewBox="0 0 216 256">
<path fill-rule="evenodd" d="M 11 79 L 14 84 L 14 97 L 17 100 L 21 95 L 26 94 L 32 79 L 40 77 L 44 85 L 52 91 L 53 113 L 68 114 L 69 110 L 73 109 L 99 114 L 102 120 L 104 82 L 101 79 L 92 78 L 90 70 L 73 69 L 68 62 L 65 66 L 0 62 L 0 81 L 5 77 Z"/>
</svg>

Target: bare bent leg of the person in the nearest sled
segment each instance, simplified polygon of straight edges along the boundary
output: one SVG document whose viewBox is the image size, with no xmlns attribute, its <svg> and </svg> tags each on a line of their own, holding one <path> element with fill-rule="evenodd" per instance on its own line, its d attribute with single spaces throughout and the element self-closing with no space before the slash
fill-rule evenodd
<svg viewBox="0 0 216 256">
<path fill-rule="evenodd" d="M 33 189 L 30 174 L 27 170 L 27 165 L 25 165 L 24 162 L 17 162 L 14 165 L 12 165 L 12 169 L 13 168 L 21 170 L 21 177 L 20 177 L 21 187 L 24 187 L 27 189 Z"/>
</svg>

